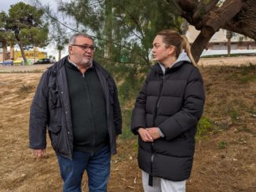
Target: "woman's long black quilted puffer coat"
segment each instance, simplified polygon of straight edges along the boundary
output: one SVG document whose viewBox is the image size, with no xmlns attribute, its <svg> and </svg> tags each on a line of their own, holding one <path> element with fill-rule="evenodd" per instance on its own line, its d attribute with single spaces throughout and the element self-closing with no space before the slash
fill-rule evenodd
<svg viewBox="0 0 256 192">
<path fill-rule="evenodd" d="M 131 129 L 137 134 L 140 127 L 159 127 L 164 137 L 151 143 L 139 136 L 141 169 L 172 181 L 188 179 L 204 100 L 203 79 L 188 60 L 177 61 L 165 74 L 159 63 L 152 67 L 137 97 Z"/>
</svg>

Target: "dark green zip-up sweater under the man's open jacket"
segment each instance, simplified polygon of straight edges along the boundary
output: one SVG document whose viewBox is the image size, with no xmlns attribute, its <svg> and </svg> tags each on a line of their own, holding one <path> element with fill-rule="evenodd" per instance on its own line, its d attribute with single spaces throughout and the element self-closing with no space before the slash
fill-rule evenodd
<svg viewBox="0 0 256 192">
<path fill-rule="evenodd" d="M 67 60 L 65 70 L 71 102 L 74 150 L 97 152 L 109 143 L 106 102 L 101 82 L 93 67 L 82 74 Z"/>
</svg>

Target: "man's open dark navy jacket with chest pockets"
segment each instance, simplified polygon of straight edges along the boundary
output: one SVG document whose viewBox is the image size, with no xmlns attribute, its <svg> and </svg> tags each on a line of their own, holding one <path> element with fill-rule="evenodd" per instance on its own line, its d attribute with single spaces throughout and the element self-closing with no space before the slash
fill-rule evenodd
<svg viewBox="0 0 256 192">
<path fill-rule="evenodd" d="M 73 130 L 68 82 L 64 68 L 67 56 L 42 74 L 31 104 L 29 147 L 46 148 L 46 128 L 53 149 L 64 158 L 72 158 Z M 108 71 L 93 61 L 106 100 L 109 143 L 116 153 L 116 136 L 122 133 L 122 117 L 115 82 Z"/>
</svg>

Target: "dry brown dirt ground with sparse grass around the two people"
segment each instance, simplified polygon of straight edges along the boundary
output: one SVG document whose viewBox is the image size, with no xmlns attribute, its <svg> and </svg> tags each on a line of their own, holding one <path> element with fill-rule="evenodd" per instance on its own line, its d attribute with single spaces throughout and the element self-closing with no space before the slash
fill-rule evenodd
<svg viewBox="0 0 256 192">
<path fill-rule="evenodd" d="M 45 158 L 34 158 L 28 149 L 29 109 L 42 75 L 39 70 L 46 67 L 0 67 L 1 192 L 61 191 L 57 158 L 49 142 Z M 201 64 L 199 69 L 207 92 L 203 117 L 211 120 L 211 129 L 196 142 L 187 191 L 256 191 L 256 68 Z M 87 191 L 86 176 L 82 189 Z M 118 139 L 108 191 L 143 191 L 136 137 Z"/>
</svg>

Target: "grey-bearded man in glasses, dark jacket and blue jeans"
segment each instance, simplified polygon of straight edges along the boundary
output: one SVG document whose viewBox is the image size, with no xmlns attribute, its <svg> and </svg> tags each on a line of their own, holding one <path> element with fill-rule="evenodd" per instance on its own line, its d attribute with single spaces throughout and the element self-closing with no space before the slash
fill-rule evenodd
<svg viewBox="0 0 256 192">
<path fill-rule="evenodd" d="M 48 127 L 64 192 L 81 191 L 85 170 L 90 191 L 107 191 L 111 154 L 122 132 L 115 82 L 93 60 L 94 51 L 90 36 L 73 35 L 69 56 L 42 75 L 31 104 L 30 147 L 44 156 Z"/>
</svg>

